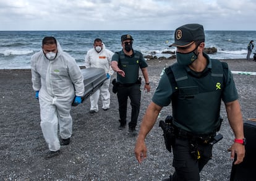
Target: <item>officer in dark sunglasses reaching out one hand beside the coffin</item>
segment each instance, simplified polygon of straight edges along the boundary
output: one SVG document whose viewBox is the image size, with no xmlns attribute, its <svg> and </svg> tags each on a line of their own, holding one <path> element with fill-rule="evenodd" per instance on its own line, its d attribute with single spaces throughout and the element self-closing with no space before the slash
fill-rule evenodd
<svg viewBox="0 0 256 181">
<path fill-rule="evenodd" d="M 122 50 L 116 52 L 111 61 L 112 69 L 117 72 L 117 98 L 119 103 L 120 126 L 122 130 L 126 127 L 127 100 L 130 98 L 132 116 L 129 122 L 129 131 L 135 132 L 137 119 L 140 112 L 140 84 L 139 69 L 142 70 L 145 79 L 144 89 L 150 91 L 148 80 L 147 63 L 142 53 L 132 48 L 133 38 L 131 35 L 122 35 Z"/>
</svg>

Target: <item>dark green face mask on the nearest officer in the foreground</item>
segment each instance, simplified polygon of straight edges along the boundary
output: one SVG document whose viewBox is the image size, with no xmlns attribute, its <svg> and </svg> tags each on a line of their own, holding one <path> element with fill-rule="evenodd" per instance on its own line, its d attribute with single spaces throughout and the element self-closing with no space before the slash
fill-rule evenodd
<svg viewBox="0 0 256 181">
<path fill-rule="evenodd" d="M 197 49 L 197 48 L 195 48 Z M 189 53 L 179 53 L 176 52 L 176 59 L 178 64 L 181 65 L 190 65 L 192 64 L 195 59 L 197 59 L 197 54 L 195 54 L 195 49 L 193 51 L 190 51 Z"/>
</svg>

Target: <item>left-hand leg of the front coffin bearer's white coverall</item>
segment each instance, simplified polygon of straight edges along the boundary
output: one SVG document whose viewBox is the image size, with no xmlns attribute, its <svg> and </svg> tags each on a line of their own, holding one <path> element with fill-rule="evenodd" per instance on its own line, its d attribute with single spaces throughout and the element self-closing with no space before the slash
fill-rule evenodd
<svg viewBox="0 0 256 181">
<path fill-rule="evenodd" d="M 40 117 L 41 129 L 50 151 L 58 151 L 61 148 L 58 138 L 58 117 L 56 106 L 52 104 L 51 99 L 42 99 L 40 96 Z"/>
</svg>

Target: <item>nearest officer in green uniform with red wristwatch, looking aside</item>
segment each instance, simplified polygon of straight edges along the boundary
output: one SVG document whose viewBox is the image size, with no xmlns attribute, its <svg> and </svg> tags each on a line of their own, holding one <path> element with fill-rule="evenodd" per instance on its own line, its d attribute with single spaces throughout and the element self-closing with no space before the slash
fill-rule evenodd
<svg viewBox="0 0 256 181">
<path fill-rule="evenodd" d="M 231 158 L 237 155 L 234 164 L 242 162 L 245 154 L 242 114 L 228 64 L 203 53 L 203 26 L 183 25 L 176 29 L 174 39 L 171 46 L 177 47 L 177 63 L 161 76 L 143 116 L 134 152 L 139 162 L 147 157 L 145 138 L 162 107 L 172 103 L 175 172 L 166 180 L 200 180 L 199 173 L 211 159 L 212 141 L 220 128 L 221 99 L 236 138 L 231 146 Z"/>
</svg>

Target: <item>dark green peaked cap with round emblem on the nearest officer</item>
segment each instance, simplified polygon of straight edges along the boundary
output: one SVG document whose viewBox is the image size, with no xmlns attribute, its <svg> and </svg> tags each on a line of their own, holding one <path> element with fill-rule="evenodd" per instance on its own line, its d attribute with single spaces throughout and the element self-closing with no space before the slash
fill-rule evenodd
<svg viewBox="0 0 256 181">
<path fill-rule="evenodd" d="M 199 24 L 183 25 L 175 30 L 174 43 L 170 46 L 186 47 L 197 40 L 205 40 L 203 26 Z M 170 47 L 169 46 L 169 47 Z"/>
</svg>

